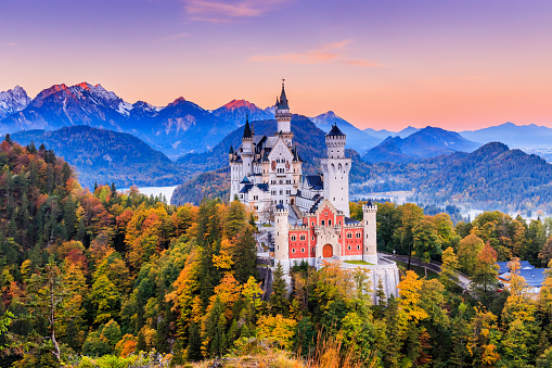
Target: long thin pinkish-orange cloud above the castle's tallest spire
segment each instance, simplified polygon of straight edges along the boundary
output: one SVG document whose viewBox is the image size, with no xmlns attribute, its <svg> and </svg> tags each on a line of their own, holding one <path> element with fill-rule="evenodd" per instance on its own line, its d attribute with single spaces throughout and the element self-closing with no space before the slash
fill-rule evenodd
<svg viewBox="0 0 552 368">
<path fill-rule="evenodd" d="M 348 64 L 367 67 L 384 67 L 376 62 L 369 62 L 365 60 L 349 59 L 345 55 L 346 47 L 350 45 L 352 40 L 343 40 L 339 42 L 328 43 L 321 48 L 309 50 L 305 52 L 292 52 L 280 55 L 253 55 L 249 60 L 253 62 L 287 62 L 293 64 L 323 64 L 323 63 L 335 63 L 335 64 Z"/>
</svg>

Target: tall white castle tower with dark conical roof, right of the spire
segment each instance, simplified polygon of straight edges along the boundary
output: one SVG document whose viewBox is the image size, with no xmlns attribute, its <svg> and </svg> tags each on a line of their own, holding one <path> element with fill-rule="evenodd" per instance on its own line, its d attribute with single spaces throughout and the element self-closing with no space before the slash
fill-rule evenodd
<svg viewBox="0 0 552 368">
<path fill-rule="evenodd" d="M 324 174 L 324 198 L 344 213 L 349 213 L 349 172 L 350 158 L 345 157 L 346 136 L 332 126 L 332 130 L 325 135 L 326 157 L 320 160 Z"/>
</svg>

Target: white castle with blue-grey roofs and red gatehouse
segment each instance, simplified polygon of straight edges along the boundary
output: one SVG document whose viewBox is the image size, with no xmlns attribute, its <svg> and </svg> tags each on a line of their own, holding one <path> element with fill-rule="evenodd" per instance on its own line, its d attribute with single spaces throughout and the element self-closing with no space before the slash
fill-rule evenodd
<svg viewBox="0 0 552 368">
<path fill-rule="evenodd" d="M 325 135 L 323 174 L 304 176 L 283 83 L 274 115 L 278 131 L 273 136 L 255 136 L 247 119 L 242 144 L 236 150 L 230 147 L 230 200 L 238 198 L 253 207 L 261 221 L 273 217 L 274 264 L 286 271 L 301 262 L 320 267 L 322 259 L 365 261 L 376 270 L 373 283 L 378 275 L 386 294 L 396 295 L 395 263 L 378 265 L 377 206 L 369 201 L 362 206 L 362 221 L 349 218 L 351 160 L 345 157 L 346 136 L 334 125 Z"/>
</svg>

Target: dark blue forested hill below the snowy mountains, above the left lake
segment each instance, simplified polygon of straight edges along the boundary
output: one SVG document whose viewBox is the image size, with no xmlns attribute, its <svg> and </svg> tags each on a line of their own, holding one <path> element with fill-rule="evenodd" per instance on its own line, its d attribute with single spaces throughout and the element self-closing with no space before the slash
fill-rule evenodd
<svg viewBox="0 0 552 368">
<path fill-rule="evenodd" d="M 89 188 L 94 182 L 117 188 L 174 186 L 191 177 L 189 170 L 153 150 L 141 139 L 124 132 L 75 126 L 59 130 L 25 130 L 11 135 L 21 144 L 44 144 L 77 168 L 79 181 Z"/>
</svg>

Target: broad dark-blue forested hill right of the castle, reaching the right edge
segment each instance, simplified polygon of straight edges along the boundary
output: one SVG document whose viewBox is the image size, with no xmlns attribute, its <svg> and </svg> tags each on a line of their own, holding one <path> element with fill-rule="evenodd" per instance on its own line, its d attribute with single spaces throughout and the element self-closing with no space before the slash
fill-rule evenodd
<svg viewBox="0 0 552 368">
<path fill-rule="evenodd" d="M 552 165 L 543 158 L 491 142 L 418 163 L 378 163 L 355 193 L 413 190 L 423 203 L 471 203 L 483 210 L 552 211 Z"/>
</svg>

